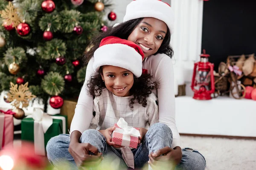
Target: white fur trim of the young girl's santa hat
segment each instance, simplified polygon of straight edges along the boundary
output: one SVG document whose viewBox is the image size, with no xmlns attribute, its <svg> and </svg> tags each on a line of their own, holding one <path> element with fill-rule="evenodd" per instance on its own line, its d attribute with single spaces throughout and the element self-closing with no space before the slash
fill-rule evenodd
<svg viewBox="0 0 256 170">
<path fill-rule="evenodd" d="M 129 45 L 107 44 L 99 47 L 94 52 L 94 71 L 98 71 L 103 65 L 125 68 L 136 77 L 142 74 L 142 56 Z"/>
</svg>

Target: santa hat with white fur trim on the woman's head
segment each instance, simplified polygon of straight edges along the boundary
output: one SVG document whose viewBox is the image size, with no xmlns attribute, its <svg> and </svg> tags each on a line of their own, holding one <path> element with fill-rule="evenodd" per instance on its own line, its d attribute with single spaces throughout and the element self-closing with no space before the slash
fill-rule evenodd
<svg viewBox="0 0 256 170">
<path fill-rule="evenodd" d="M 161 0 L 134 0 L 126 7 L 123 22 L 142 17 L 153 17 L 166 23 L 171 34 L 174 28 L 174 12 Z"/>
</svg>

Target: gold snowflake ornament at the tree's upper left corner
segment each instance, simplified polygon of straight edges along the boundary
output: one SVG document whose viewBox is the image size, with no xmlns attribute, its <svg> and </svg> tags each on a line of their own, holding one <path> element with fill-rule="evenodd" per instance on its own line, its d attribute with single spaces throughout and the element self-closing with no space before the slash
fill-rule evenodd
<svg viewBox="0 0 256 170">
<path fill-rule="evenodd" d="M 17 26 L 21 23 L 20 17 L 17 14 L 17 10 L 14 8 L 11 2 L 6 6 L 5 9 L 0 11 L 1 17 L 7 25 L 11 25 L 17 29 Z"/>
</svg>

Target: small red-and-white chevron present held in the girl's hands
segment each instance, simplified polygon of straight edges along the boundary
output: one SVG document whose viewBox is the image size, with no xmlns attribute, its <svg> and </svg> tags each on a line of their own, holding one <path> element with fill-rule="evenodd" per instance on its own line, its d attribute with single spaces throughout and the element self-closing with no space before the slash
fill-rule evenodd
<svg viewBox="0 0 256 170">
<path fill-rule="evenodd" d="M 116 129 L 113 131 L 112 141 L 115 144 L 137 148 L 140 137 L 139 128 L 128 126 L 128 123 L 123 118 L 120 118 L 114 126 Z"/>
</svg>

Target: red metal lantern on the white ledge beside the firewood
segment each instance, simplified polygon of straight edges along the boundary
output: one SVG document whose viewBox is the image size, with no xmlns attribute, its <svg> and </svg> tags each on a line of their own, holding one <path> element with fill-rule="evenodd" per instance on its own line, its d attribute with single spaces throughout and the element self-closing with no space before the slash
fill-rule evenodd
<svg viewBox="0 0 256 170">
<path fill-rule="evenodd" d="M 209 54 L 201 54 L 200 62 L 195 63 L 194 73 L 192 77 L 191 89 L 195 92 L 193 99 L 209 100 L 212 99 L 211 94 L 215 91 L 213 67 L 214 65 L 208 61 Z"/>
</svg>

